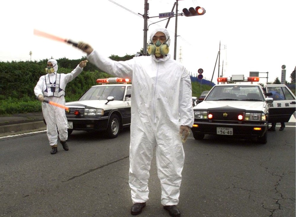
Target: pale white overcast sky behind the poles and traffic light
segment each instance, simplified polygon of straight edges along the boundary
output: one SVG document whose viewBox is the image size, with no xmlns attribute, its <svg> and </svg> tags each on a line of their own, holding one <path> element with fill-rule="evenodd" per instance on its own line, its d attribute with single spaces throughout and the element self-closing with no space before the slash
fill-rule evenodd
<svg viewBox="0 0 296 217">
<path fill-rule="evenodd" d="M 148 3 L 149 16 L 154 17 L 170 12 L 175 0 L 148 0 Z M 221 41 L 219 71 L 223 77 L 248 76 L 249 72 L 260 72 L 260 77 L 267 77 L 265 72 L 268 72 L 268 82 L 273 82 L 276 77 L 281 80 L 284 64 L 286 80 L 291 81 L 296 66 L 296 1 L 179 0 L 178 12 L 196 6 L 204 7 L 206 13 L 178 16 L 177 30 L 176 59 L 192 75 L 202 68 L 204 78 L 211 80 L 213 76 L 213 82 L 217 83 L 218 63 L 214 75 L 213 71 Z M 33 29 L 85 41 L 106 56 L 136 54 L 143 48 L 144 19 L 138 13 L 144 14 L 144 0 L 9 0 L 1 2 L 1 9 L 0 61 L 85 56 L 66 43 L 33 35 Z M 167 20 L 160 20 L 163 19 L 149 18 L 148 39 L 152 30 L 165 27 Z M 170 19 L 168 30 L 173 59 L 175 17 Z M 260 83 L 266 80 L 260 78 Z"/>
</svg>

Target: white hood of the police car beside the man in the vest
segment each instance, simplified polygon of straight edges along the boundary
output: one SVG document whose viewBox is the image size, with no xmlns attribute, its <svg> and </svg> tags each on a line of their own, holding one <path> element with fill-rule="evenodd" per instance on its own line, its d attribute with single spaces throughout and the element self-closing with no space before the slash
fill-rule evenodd
<svg viewBox="0 0 296 217">
<path fill-rule="evenodd" d="M 108 108 L 110 105 L 116 106 L 123 104 L 123 101 L 110 101 L 107 103 L 107 100 L 82 100 L 82 101 L 73 101 L 73 102 L 67 102 L 66 106 L 68 107 L 75 107 L 75 106 L 83 106 L 83 107 L 91 107 L 91 108 Z"/>
</svg>

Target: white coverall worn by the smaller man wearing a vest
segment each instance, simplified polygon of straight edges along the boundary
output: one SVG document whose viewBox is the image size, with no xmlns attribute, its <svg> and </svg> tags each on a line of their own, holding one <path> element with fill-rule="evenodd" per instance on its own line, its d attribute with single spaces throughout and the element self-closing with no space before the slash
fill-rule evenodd
<svg viewBox="0 0 296 217">
<path fill-rule="evenodd" d="M 50 59 L 48 62 L 51 62 L 53 64 L 54 72 L 51 74 L 43 75 L 39 78 L 39 81 L 37 82 L 37 85 L 34 88 L 34 93 L 36 97 L 38 97 L 39 94 L 44 95 L 44 99 L 48 101 L 52 101 L 55 103 L 59 103 L 62 105 L 65 105 L 65 88 L 67 83 L 72 81 L 75 77 L 77 77 L 83 70 L 83 68 L 79 67 L 79 65 L 71 72 L 68 74 L 59 74 L 60 79 L 59 79 L 59 93 L 57 95 L 61 96 L 53 96 L 52 89 L 48 87 L 49 85 L 46 84 L 46 76 L 49 76 L 49 81 L 51 84 L 55 84 L 56 78 L 57 78 L 57 61 L 55 59 Z M 47 91 L 45 93 L 44 91 Z M 53 90 L 54 91 L 54 90 Z M 51 95 L 51 96 L 46 96 L 46 95 Z M 43 102 L 41 104 L 42 107 L 42 113 L 43 117 L 46 122 L 46 132 L 47 132 L 47 137 L 49 140 L 49 145 L 57 145 L 57 138 L 58 138 L 58 133 L 57 129 L 59 131 L 59 138 L 61 141 L 66 141 L 68 139 L 68 131 L 67 131 L 67 125 L 68 121 L 66 118 L 65 114 L 65 109 L 64 108 L 59 108 L 56 106 L 53 106 L 49 103 Z"/>
</svg>

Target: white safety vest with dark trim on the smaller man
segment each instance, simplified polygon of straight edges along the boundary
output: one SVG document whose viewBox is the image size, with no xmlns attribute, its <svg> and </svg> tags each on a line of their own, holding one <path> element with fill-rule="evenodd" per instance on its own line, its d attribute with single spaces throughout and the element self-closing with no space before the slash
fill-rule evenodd
<svg viewBox="0 0 296 217">
<path fill-rule="evenodd" d="M 56 80 L 54 83 L 52 83 L 49 80 L 49 74 L 45 75 L 46 89 L 44 90 L 44 96 L 60 97 L 62 95 L 65 95 L 65 90 L 63 90 L 62 87 L 60 87 L 60 79 L 61 75 L 57 73 Z"/>
</svg>

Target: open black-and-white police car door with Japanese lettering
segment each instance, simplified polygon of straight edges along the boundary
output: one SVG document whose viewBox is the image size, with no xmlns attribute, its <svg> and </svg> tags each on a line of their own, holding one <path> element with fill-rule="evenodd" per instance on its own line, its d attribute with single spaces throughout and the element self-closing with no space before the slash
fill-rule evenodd
<svg viewBox="0 0 296 217">
<path fill-rule="evenodd" d="M 266 92 L 272 93 L 274 99 L 269 104 L 269 123 L 289 122 L 291 115 L 295 112 L 295 95 L 286 85 L 266 85 Z"/>
</svg>

